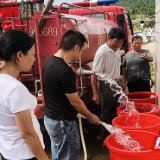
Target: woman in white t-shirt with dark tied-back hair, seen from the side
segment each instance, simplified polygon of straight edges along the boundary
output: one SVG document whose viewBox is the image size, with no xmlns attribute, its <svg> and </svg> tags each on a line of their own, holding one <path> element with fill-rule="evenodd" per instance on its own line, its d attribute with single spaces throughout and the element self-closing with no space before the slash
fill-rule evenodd
<svg viewBox="0 0 160 160">
<path fill-rule="evenodd" d="M 39 123 L 37 101 L 17 80 L 35 61 L 35 40 L 19 30 L 0 37 L 0 153 L 2 160 L 49 160 Z"/>
</svg>

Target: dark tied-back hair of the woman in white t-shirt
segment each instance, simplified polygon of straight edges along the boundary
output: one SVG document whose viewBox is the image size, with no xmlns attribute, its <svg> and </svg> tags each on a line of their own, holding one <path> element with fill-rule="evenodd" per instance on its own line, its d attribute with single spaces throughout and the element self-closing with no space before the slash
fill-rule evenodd
<svg viewBox="0 0 160 160">
<path fill-rule="evenodd" d="M 8 30 L 0 37 L 0 59 L 10 61 L 19 51 L 26 55 L 34 43 L 34 38 L 27 33 L 15 29 Z"/>
</svg>

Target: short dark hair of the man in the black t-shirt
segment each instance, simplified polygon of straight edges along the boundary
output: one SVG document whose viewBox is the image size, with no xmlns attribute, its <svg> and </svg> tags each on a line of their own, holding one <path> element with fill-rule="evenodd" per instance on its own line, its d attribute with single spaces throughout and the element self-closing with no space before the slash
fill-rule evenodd
<svg viewBox="0 0 160 160">
<path fill-rule="evenodd" d="M 85 42 L 87 42 L 87 40 L 81 32 L 76 30 L 68 30 L 61 39 L 59 49 L 68 51 L 77 44 L 80 46 L 81 49 Z"/>
</svg>

